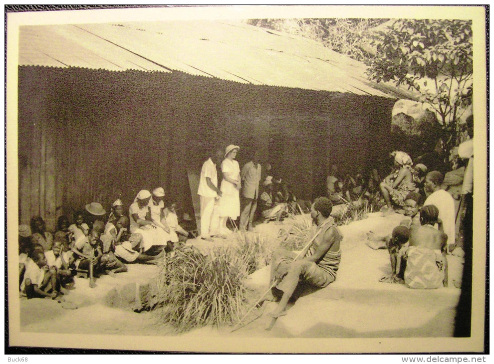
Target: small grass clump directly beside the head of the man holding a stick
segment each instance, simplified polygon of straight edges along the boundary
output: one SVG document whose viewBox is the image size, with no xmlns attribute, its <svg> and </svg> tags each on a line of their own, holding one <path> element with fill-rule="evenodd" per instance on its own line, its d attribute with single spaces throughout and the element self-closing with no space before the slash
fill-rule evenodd
<svg viewBox="0 0 494 364">
<path fill-rule="evenodd" d="M 286 229 L 281 232 L 280 246 L 288 250 L 300 250 L 315 234 L 317 227 L 308 214 L 290 213 L 283 221 Z"/>
</svg>

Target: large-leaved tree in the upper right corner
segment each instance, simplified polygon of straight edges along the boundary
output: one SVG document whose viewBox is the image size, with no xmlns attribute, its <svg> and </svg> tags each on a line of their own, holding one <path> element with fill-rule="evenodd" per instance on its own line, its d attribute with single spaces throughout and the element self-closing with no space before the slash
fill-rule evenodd
<svg viewBox="0 0 494 364">
<path fill-rule="evenodd" d="M 392 81 L 420 94 L 446 131 L 472 103 L 472 24 L 466 20 L 399 19 L 375 32 L 377 55 L 369 78 Z"/>
</svg>

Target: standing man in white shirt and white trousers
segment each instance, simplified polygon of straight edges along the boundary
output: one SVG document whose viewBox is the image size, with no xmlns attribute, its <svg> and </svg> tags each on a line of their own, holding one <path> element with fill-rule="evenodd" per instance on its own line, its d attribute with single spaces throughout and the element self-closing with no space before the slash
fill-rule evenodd
<svg viewBox="0 0 494 364">
<path fill-rule="evenodd" d="M 204 162 L 201 169 L 201 179 L 197 194 L 201 202 L 201 239 L 213 241 L 211 235 L 217 233 L 219 227 L 218 199 L 222 192 L 218 188 L 218 172 L 216 164 L 221 163 L 223 151 L 213 149 L 210 158 Z"/>
</svg>

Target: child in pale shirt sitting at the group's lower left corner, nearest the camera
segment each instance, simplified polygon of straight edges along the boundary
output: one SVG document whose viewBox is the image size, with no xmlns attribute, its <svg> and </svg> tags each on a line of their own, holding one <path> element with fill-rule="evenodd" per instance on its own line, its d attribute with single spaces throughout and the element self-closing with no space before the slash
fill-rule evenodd
<svg viewBox="0 0 494 364">
<path fill-rule="evenodd" d="M 30 259 L 26 263 L 24 279 L 20 284 L 21 292 L 24 292 L 27 299 L 39 297 L 56 298 L 57 276 L 53 269 L 46 264 L 44 253 L 39 249 L 33 249 Z"/>
</svg>

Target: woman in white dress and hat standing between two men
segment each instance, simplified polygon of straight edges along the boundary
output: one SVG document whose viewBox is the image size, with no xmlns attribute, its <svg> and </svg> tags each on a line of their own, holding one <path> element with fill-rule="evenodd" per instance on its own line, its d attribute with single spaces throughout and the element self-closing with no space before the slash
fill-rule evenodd
<svg viewBox="0 0 494 364">
<path fill-rule="evenodd" d="M 233 221 L 240 216 L 240 188 L 242 186 L 240 179 L 239 162 L 235 160 L 240 147 L 229 145 L 225 148 L 225 159 L 221 164 L 223 181 L 221 182 L 222 196 L 220 198 L 220 234 L 229 234 L 232 231 L 227 228 L 227 219 L 230 217 Z"/>
</svg>

